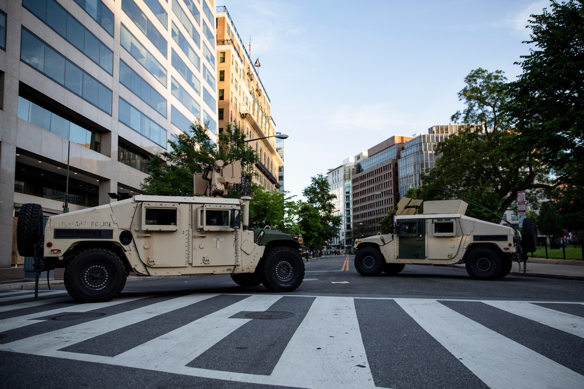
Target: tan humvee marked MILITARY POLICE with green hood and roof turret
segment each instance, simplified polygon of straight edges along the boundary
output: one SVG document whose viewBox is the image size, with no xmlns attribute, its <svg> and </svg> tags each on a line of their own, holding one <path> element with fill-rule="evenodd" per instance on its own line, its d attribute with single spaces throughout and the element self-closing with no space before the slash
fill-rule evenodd
<svg viewBox="0 0 584 389">
<path fill-rule="evenodd" d="M 17 223 L 20 255 L 40 271 L 65 268 L 64 283 L 79 302 L 105 302 L 138 275 L 230 274 L 241 286 L 260 283 L 291 292 L 304 278 L 303 238 L 249 228 L 250 197 L 222 198 L 239 183 L 241 164 L 201 164 L 196 197 L 132 198 L 50 216 L 43 231 L 38 204 L 23 204 Z M 38 286 L 38 277 L 37 277 Z"/>
</svg>

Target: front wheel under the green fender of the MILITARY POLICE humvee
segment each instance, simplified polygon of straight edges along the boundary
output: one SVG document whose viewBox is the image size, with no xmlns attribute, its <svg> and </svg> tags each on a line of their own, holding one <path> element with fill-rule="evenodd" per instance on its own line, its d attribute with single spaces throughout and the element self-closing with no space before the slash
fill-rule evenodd
<svg viewBox="0 0 584 389">
<path fill-rule="evenodd" d="M 260 262 L 263 286 L 270 292 L 292 292 L 304 279 L 304 261 L 290 247 L 275 247 Z"/>
</svg>

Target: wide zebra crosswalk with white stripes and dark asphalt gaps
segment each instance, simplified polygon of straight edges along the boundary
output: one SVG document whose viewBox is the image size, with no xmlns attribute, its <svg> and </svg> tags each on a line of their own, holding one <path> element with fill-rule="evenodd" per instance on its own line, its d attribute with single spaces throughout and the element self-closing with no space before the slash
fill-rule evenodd
<svg viewBox="0 0 584 389">
<path fill-rule="evenodd" d="M 293 315 L 246 316 L 265 311 Z M 16 291 L 0 335 L 5 352 L 249 384 L 584 388 L 582 303 Z"/>
</svg>

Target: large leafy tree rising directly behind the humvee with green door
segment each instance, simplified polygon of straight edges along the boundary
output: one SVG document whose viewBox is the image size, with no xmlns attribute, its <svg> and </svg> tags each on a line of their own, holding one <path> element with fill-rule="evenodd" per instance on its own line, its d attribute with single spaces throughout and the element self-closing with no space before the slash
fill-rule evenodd
<svg viewBox="0 0 584 389">
<path fill-rule="evenodd" d="M 467 126 L 437 145 L 440 157 L 423 176 L 423 199 L 465 197 L 500 215 L 515 201 L 517 191 L 559 184 L 549 185 L 544 164 L 528 150 L 515 147 L 517 131 L 504 110 L 509 103 L 505 81 L 501 71 L 479 68 L 467 75 L 467 85 L 458 93 L 467 108 L 451 118 Z M 469 207 L 469 215 L 472 212 L 475 217 L 499 220 L 480 207 Z"/>
</svg>

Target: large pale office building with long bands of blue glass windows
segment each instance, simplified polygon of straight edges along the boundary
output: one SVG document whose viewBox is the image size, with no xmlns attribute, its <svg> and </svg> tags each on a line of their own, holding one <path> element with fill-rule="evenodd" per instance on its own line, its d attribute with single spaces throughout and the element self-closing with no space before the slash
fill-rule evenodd
<svg viewBox="0 0 584 389">
<path fill-rule="evenodd" d="M 0 234 L 23 203 L 49 216 L 67 193 L 71 211 L 139 194 L 193 121 L 216 141 L 215 35 L 214 0 L 0 0 Z"/>
</svg>

